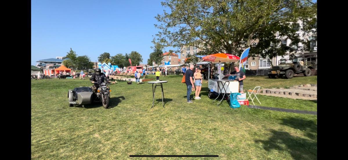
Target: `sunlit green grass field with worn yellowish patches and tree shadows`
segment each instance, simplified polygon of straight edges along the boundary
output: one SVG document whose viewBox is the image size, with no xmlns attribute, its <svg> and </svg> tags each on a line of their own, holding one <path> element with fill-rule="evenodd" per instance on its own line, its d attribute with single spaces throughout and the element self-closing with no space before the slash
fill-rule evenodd
<svg viewBox="0 0 348 160">
<path fill-rule="evenodd" d="M 189 104 L 181 77 L 169 75 L 160 79 L 168 81 L 164 83 L 165 108 L 161 106 L 159 89 L 155 107 L 150 108 L 151 84 L 118 82 L 110 85 L 108 109 L 98 103 L 69 107 L 68 90 L 91 86 L 87 79 L 32 80 L 32 159 L 128 159 L 132 154 L 219 155 L 206 159 L 317 159 L 316 115 L 245 106 L 233 109 L 226 100 L 217 107 L 207 97 L 206 80 L 201 99 L 193 99 Z M 316 76 L 247 77 L 244 89 L 313 84 L 316 79 Z M 255 105 L 317 110 L 315 101 L 258 97 L 262 105 Z"/>
</svg>

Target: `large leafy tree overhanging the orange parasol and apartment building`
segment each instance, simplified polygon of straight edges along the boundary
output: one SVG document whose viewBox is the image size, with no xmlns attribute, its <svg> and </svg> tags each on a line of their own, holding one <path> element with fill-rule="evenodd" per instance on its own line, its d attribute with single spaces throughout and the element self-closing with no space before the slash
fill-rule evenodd
<svg viewBox="0 0 348 160">
<path fill-rule="evenodd" d="M 292 51 L 299 43 L 295 26 L 302 20 L 304 34 L 316 22 L 316 3 L 310 0 L 167 0 L 155 18 L 161 31 L 153 43 L 161 47 L 196 46 L 199 54 L 227 53 L 240 55 L 251 47 L 249 55 L 272 58 Z M 311 26 L 311 27 L 308 27 Z M 278 36 L 291 39 L 292 47 L 280 45 Z M 259 43 L 253 40 L 259 39 Z M 264 53 L 263 53 L 264 52 Z"/>
</svg>

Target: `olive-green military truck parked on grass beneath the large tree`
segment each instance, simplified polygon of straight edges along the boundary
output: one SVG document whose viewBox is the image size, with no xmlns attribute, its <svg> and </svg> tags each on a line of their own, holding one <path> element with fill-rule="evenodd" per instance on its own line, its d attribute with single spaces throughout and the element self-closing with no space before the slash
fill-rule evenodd
<svg viewBox="0 0 348 160">
<path fill-rule="evenodd" d="M 304 76 L 311 76 L 312 70 L 317 69 L 317 55 L 301 55 L 295 58 L 279 60 L 279 65 L 273 66 L 268 72 L 269 78 L 291 79 L 294 74 L 303 73 Z"/>
</svg>

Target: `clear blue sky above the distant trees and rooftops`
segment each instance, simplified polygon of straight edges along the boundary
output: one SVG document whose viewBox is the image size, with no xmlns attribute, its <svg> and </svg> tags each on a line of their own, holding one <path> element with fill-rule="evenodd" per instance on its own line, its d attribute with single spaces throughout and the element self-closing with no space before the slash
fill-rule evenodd
<svg viewBox="0 0 348 160">
<path fill-rule="evenodd" d="M 65 56 L 70 48 L 95 62 L 108 52 L 139 52 L 147 63 L 152 35 L 158 33 L 154 18 L 162 14 L 161 0 L 32 0 L 31 64 Z M 173 48 L 165 48 L 169 51 Z"/>
</svg>

